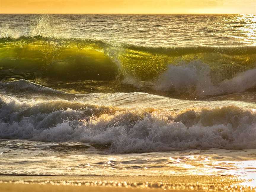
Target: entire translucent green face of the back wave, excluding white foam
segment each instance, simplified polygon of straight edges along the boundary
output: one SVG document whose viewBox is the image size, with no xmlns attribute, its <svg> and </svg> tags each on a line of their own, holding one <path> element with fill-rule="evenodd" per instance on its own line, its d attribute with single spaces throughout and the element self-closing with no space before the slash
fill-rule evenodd
<svg viewBox="0 0 256 192">
<path fill-rule="evenodd" d="M 168 65 L 200 61 L 214 82 L 255 68 L 256 47 L 149 48 L 41 36 L 0 39 L 0 79 L 153 81 Z M 199 66 L 200 67 L 200 66 Z"/>
</svg>

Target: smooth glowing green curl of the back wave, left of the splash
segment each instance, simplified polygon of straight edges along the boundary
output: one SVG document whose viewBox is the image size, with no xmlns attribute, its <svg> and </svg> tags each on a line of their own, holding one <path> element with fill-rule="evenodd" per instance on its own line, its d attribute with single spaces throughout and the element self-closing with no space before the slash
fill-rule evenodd
<svg viewBox="0 0 256 192">
<path fill-rule="evenodd" d="M 118 68 L 104 49 L 85 41 L 1 39 L 1 79 L 111 80 Z"/>
</svg>

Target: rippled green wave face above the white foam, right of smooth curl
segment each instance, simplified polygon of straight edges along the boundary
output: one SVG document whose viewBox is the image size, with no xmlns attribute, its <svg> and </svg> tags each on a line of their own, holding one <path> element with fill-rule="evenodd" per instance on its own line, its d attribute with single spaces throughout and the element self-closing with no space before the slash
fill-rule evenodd
<svg viewBox="0 0 256 192">
<path fill-rule="evenodd" d="M 125 73 L 140 80 L 152 80 L 168 65 L 187 65 L 200 61 L 210 68 L 215 82 L 230 79 L 256 66 L 256 47 L 128 47 L 119 55 Z M 199 66 L 201 67 L 201 65 Z"/>
</svg>

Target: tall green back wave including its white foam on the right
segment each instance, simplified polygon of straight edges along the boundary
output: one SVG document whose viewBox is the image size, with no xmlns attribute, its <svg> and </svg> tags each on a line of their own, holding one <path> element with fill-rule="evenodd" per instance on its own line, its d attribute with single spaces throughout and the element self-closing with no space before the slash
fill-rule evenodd
<svg viewBox="0 0 256 192">
<path fill-rule="evenodd" d="M 1 81 L 116 81 L 197 95 L 255 86 L 256 47 L 139 47 L 44 36 L 2 37 L 0 46 Z"/>
</svg>

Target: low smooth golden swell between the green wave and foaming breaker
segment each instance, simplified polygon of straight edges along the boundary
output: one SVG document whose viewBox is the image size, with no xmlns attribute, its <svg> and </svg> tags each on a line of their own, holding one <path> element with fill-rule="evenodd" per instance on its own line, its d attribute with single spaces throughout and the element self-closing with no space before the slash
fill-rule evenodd
<svg viewBox="0 0 256 192">
<path fill-rule="evenodd" d="M 207 100 L 181 100 L 148 94 L 145 92 L 75 94 L 44 87 L 27 80 L 17 80 L 0 82 L 0 94 L 6 97 L 11 96 L 16 98 L 18 101 L 33 100 L 34 102 L 41 102 L 43 100 L 65 100 L 68 102 L 76 101 L 77 103 L 84 103 L 84 105 L 95 104 L 120 108 L 139 107 L 148 108 L 149 110 L 151 110 L 151 108 L 155 108 L 177 112 L 189 108 L 215 108 L 226 105 L 234 105 L 247 110 L 255 108 L 255 94 L 248 92 L 211 97 Z M 245 102 L 235 101 L 236 99 L 228 99 L 233 97 L 242 97 Z"/>
</svg>

